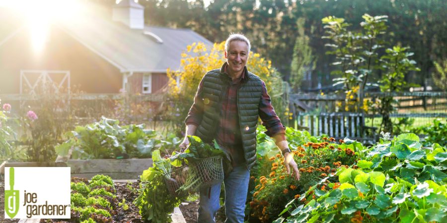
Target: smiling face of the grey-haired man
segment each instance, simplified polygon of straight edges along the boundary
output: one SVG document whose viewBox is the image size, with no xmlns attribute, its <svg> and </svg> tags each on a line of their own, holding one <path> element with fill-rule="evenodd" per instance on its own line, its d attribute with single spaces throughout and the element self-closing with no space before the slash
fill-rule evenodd
<svg viewBox="0 0 447 223">
<path fill-rule="evenodd" d="M 227 52 L 225 52 L 228 71 L 237 74 L 244 70 L 248 60 L 248 45 L 243 41 L 231 41 Z"/>
</svg>

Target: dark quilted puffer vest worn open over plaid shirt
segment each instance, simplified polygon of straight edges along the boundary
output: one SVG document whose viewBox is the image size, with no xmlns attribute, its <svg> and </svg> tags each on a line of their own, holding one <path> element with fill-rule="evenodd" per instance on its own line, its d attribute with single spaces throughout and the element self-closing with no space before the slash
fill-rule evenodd
<svg viewBox="0 0 447 223">
<path fill-rule="evenodd" d="M 225 64 L 224 64 L 225 65 Z M 237 111 L 247 168 L 256 163 L 256 127 L 258 123 L 259 103 L 262 96 L 261 78 L 244 68 L 245 77 L 237 90 Z M 230 78 L 222 69 L 209 71 L 203 77 L 204 113 L 196 134 L 204 142 L 213 141 L 219 126 L 221 100 Z"/>
</svg>

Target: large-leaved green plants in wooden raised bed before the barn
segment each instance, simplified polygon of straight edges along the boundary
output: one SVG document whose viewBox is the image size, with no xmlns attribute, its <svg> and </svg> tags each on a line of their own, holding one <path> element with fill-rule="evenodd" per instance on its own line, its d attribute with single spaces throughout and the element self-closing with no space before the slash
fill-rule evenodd
<svg viewBox="0 0 447 223">
<path fill-rule="evenodd" d="M 56 151 L 65 156 L 73 147 L 73 159 L 148 158 L 153 149 L 172 149 L 180 142 L 176 137 L 170 138 L 172 142 L 160 140 L 144 124 L 120 126 L 118 120 L 105 117 L 86 126 L 76 126 L 67 135 L 69 140 L 58 145 Z"/>
</svg>

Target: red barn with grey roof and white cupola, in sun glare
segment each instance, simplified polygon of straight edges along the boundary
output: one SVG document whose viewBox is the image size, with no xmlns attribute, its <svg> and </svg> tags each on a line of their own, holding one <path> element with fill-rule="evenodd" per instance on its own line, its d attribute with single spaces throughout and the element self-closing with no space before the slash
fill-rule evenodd
<svg viewBox="0 0 447 223">
<path fill-rule="evenodd" d="M 190 29 L 146 26 L 144 7 L 133 0 L 115 5 L 112 16 L 52 21 L 37 30 L 40 39 L 39 27 L 19 17 L 0 10 L 0 95 L 29 93 L 42 83 L 72 92 L 154 94 L 188 45 L 212 45 Z"/>
</svg>

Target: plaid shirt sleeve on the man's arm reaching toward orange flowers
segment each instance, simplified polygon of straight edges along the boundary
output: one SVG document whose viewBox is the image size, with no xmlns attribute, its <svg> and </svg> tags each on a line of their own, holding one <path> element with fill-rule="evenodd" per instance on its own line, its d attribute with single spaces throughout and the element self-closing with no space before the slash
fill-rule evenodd
<svg viewBox="0 0 447 223">
<path fill-rule="evenodd" d="M 273 137 L 278 135 L 282 140 L 286 140 L 286 127 L 281 123 L 278 115 L 272 106 L 272 100 L 267 93 L 267 87 L 265 82 L 262 81 L 262 96 L 259 102 L 259 117 L 261 118 L 262 125 L 267 128 L 266 135 Z"/>
</svg>

